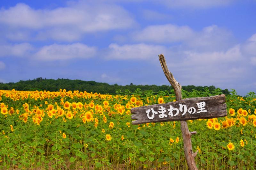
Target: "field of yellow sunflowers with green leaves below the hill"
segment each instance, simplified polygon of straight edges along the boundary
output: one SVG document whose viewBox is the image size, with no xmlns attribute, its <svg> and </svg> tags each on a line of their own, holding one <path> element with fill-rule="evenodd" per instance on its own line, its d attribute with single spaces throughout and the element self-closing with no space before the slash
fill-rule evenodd
<svg viewBox="0 0 256 170">
<path fill-rule="evenodd" d="M 231 93 L 227 117 L 187 121 L 199 169 L 256 169 L 256 95 Z M 188 169 L 180 122 L 132 125 L 132 107 L 170 101 L 173 90 L 0 90 L 0 169 Z"/>
</svg>

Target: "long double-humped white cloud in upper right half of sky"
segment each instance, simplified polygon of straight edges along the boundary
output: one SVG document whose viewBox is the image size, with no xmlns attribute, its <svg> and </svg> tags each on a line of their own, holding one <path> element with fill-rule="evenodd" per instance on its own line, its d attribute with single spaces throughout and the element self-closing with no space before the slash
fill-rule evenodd
<svg viewBox="0 0 256 170">
<path fill-rule="evenodd" d="M 202 31 L 189 26 L 154 25 L 133 33 L 132 38 L 140 42 L 181 42 L 187 48 L 203 51 L 224 50 L 234 45 L 232 33 L 216 25 L 204 27 Z"/>
</svg>

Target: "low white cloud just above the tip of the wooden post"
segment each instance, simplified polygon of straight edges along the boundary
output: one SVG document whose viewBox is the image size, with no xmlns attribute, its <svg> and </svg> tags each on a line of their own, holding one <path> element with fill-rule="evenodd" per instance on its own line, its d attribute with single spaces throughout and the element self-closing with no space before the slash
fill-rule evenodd
<svg viewBox="0 0 256 170">
<path fill-rule="evenodd" d="M 158 45 L 132 44 L 123 45 L 110 44 L 108 46 L 107 59 L 158 59 L 161 53 L 167 53 L 168 48 Z M 151 61 L 151 60 L 150 60 Z"/>
</svg>

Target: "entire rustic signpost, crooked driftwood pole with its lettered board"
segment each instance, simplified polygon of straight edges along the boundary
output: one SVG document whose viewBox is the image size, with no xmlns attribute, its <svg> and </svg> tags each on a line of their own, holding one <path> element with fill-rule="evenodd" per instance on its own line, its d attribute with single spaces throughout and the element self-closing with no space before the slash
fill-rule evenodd
<svg viewBox="0 0 256 170">
<path fill-rule="evenodd" d="M 197 169 L 195 157 L 198 150 L 195 153 L 193 152 L 191 136 L 196 134 L 196 131 L 189 132 L 186 121 L 227 116 L 226 97 L 221 94 L 210 97 L 182 99 L 181 86 L 172 73 L 169 72 L 164 55 L 160 54 L 158 56 L 164 74 L 174 89 L 177 101 L 131 108 L 131 113 L 133 114 L 131 117 L 135 119 L 132 124 L 180 121 L 185 158 L 188 168 L 194 170 Z"/>
</svg>

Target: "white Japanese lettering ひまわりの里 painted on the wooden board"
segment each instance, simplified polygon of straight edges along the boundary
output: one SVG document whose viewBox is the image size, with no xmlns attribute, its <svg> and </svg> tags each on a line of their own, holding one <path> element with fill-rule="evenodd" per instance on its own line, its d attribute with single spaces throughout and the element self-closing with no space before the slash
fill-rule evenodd
<svg viewBox="0 0 256 170">
<path fill-rule="evenodd" d="M 169 109 L 167 109 L 167 111 L 169 111 L 168 115 L 173 117 L 173 116 L 177 116 L 179 115 L 179 113 L 182 113 L 182 116 L 185 115 L 187 112 L 189 114 L 194 114 L 194 113 L 201 113 L 201 112 L 207 112 L 207 110 L 205 110 L 205 102 L 200 102 L 200 103 L 196 103 L 197 107 L 198 107 L 198 111 L 196 112 L 196 108 L 195 107 L 189 107 L 187 108 L 186 105 L 183 105 L 183 104 L 179 104 L 179 109 L 178 108 L 174 108 L 172 107 L 172 105 L 169 105 Z M 150 111 L 152 111 L 152 115 L 150 116 L 149 113 Z M 155 115 L 158 115 L 158 117 L 160 119 L 164 118 L 164 117 L 167 117 L 167 113 L 164 114 L 166 112 L 166 108 L 163 107 L 163 106 L 160 106 L 160 108 L 158 109 L 158 111 L 155 111 L 153 108 L 151 109 L 148 109 L 146 110 L 146 113 L 147 113 L 147 116 L 148 116 L 148 119 L 153 119 L 155 117 Z"/>
</svg>

